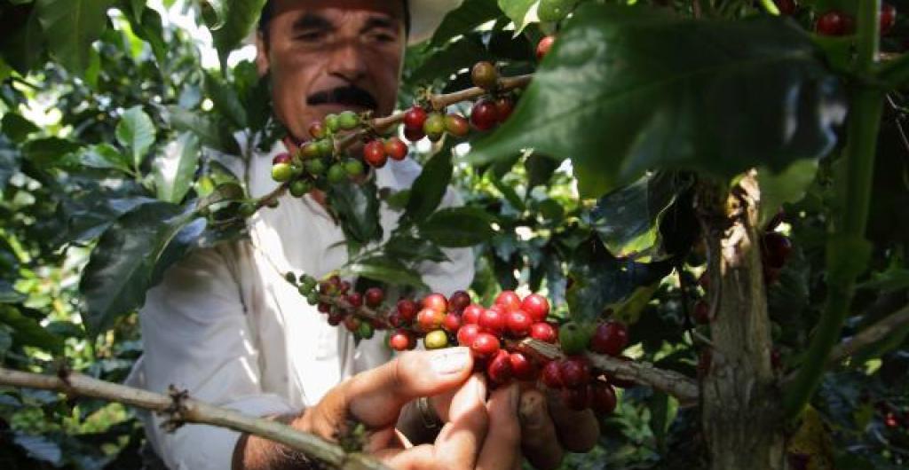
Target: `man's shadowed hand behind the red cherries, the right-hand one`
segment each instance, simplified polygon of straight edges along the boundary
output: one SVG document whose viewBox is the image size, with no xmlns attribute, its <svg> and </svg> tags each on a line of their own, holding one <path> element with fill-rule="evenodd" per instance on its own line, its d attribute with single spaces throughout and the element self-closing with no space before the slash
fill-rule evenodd
<svg viewBox="0 0 909 470">
<path fill-rule="evenodd" d="M 593 411 L 574 411 L 551 390 L 524 389 L 518 412 L 521 416 L 521 449 L 539 470 L 558 467 L 565 451 L 589 451 L 600 436 L 600 426 Z"/>
</svg>

